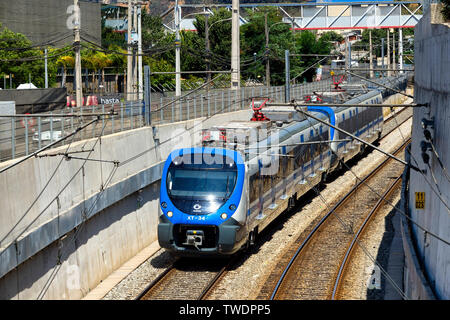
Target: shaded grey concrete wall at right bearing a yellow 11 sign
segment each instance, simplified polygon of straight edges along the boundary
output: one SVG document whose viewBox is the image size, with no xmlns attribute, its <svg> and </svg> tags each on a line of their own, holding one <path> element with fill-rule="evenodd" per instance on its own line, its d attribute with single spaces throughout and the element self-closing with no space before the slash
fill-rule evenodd
<svg viewBox="0 0 450 320">
<path fill-rule="evenodd" d="M 412 226 L 417 248 L 413 254 L 423 264 L 424 278 L 429 281 L 437 298 L 449 299 L 450 246 L 430 233 L 450 240 L 450 215 L 443 203 L 450 204 L 450 182 L 431 151 L 427 152 L 430 168 L 423 162 L 420 146 L 420 142 L 425 141 L 421 121 L 434 117 L 434 130 L 431 130 L 434 145 L 444 167 L 450 168 L 450 28 L 441 23 L 439 11 L 438 5 L 431 4 L 430 10 L 415 27 L 415 102 L 429 103 L 430 107 L 415 108 L 413 113 L 412 163 L 426 170 L 426 174 L 411 170 L 409 210 L 411 218 L 429 231 Z M 439 191 L 443 201 L 438 197 Z M 425 193 L 424 209 L 415 207 L 416 192 Z M 406 268 L 412 270 L 413 266 L 407 265 Z M 406 280 L 405 287 L 409 292 L 414 292 L 420 285 L 414 279 Z"/>
</svg>

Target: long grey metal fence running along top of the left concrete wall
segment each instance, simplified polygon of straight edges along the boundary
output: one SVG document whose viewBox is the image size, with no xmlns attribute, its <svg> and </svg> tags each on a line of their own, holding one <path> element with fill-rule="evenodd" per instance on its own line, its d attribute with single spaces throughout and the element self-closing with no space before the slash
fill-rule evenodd
<svg viewBox="0 0 450 320">
<path fill-rule="evenodd" d="M 303 83 L 290 88 L 290 97 L 300 99 L 313 91 L 329 91 L 330 79 Z M 229 89 L 183 92 L 181 99 L 160 97 L 151 100 L 150 121 L 152 125 L 211 117 L 214 114 L 249 108 L 252 97 L 270 97 L 273 102 L 284 102 L 285 87 L 244 87 L 239 92 Z M 145 105 L 142 102 L 122 102 L 115 105 L 68 107 L 58 114 L 47 113 L 47 117 L 0 118 L 0 161 L 29 155 L 74 132 L 78 127 L 93 119 L 92 114 L 111 113 L 101 116 L 100 121 L 81 130 L 76 135 L 53 147 L 66 145 L 72 141 L 95 138 L 146 125 Z M 79 114 L 83 117 L 62 117 L 60 115 Z"/>
</svg>

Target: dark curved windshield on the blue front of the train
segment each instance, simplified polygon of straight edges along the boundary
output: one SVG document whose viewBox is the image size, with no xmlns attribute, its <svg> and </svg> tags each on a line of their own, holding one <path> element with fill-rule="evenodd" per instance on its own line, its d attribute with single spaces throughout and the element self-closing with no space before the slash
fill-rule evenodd
<svg viewBox="0 0 450 320">
<path fill-rule="evenodd" d="M 207 214 L 216 211 L 228 200 L 236 180 L 237 168 L 234 163 L 172 163 L 167 173 L 167 193 L 179 210 L 190 214 Z"/>
</svg>

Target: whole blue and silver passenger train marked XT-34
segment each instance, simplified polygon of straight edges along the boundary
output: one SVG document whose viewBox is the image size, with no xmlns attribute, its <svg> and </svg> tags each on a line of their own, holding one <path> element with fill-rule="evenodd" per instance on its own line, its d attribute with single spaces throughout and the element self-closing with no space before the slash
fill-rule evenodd
<svg viewBox="0 0 450 320">
<path fill-rule="evenodd" d="M 352 106 L 308 111 L 374 142 L 383 128 L 382 92 Z M 355 106 L 355 104 L 358 104 Z M 230 255 L 325 176 L 363 150 L 358 141 L 293 107 L 265 108 L 272 121 L 233 121 L 203 132 L 203 147 L 174 150 L 161 179 L 158 241 L 179 256 Z"/>
</svg>

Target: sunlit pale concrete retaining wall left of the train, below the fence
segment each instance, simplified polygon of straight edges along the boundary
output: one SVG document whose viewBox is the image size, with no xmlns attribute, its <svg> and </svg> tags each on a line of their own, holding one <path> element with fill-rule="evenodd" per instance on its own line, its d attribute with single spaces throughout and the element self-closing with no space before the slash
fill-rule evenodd
<svg viewBox="0 0 450 320">
<path fill-rule="evenodd" d="M 163 160 L 250 110 L 74 142 L 0 175 L 0 299 L 79 299 L 156 240 Z M 65 152 L 67 146 L 48 154 Z M 6 167 L 17 160 L 2 163 Z M 121 199 L 121 200 L 117 200 Z"/>
</svg>

